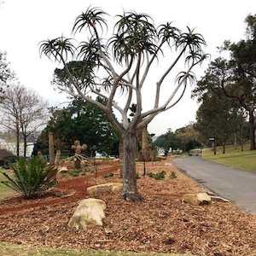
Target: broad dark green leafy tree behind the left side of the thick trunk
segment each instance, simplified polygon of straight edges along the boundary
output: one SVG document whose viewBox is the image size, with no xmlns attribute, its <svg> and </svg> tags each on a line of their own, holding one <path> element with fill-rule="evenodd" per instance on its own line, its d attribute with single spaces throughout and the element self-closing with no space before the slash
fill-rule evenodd
<svg viewBox="0 0 256 256">
<path fill-rule="evenodd" d="M 99 100 L 100 101 L 100 100 Z M 35 145 L 35 152 L 40 150 L 48 154 L 48 134 L 54 133 L 55 140 L 68 154 L 75 140 L 86 143 L 87 151 L 95 150 L 105 155 L 117 155 L 119 139 L 108 122 L 106 115 L 89 102 L 74 100 L 67 108 L 51 108 L 50 120 Z"/>
</svg>

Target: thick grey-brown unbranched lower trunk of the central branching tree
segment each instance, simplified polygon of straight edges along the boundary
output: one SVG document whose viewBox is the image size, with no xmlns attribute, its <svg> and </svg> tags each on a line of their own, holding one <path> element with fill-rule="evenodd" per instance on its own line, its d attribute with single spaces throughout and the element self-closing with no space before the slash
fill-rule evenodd
<svg viewBox="0 0 256 256">
<path fill-rule="evenodd" d="M 123 134 L 124 162 L 123 162 L 123 198 L 126 201 L 142 201 L 137 191 L 136 131 L 125 131 Z"/>
</svg>

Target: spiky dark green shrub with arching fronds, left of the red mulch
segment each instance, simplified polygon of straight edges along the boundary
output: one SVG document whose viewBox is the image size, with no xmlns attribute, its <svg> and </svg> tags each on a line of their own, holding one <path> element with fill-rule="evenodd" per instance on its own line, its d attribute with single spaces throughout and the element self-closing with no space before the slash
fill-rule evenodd
<svg viewBox="0 0 256 256">
<path fill-rule="evenodd" d="M 10 165 L 14 171 L 14 177 L 1 172 L 7 178 L 1 183 L 14 189 L 26 198 L 32 198 L 38 192 L 45 191 L 56 183 L 56 172 L 53 166 L 47 166 L 46 162 L 38 157 L 30 160 L 19 158 L 15 164 Z"/>
</svg>

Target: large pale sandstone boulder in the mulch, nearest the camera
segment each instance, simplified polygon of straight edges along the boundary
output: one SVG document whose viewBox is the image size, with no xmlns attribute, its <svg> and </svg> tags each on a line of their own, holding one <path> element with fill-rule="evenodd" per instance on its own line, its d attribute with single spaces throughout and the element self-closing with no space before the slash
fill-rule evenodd
<svg viewBox="0 0 256 256">
<path fill-rule="evenodd" d="M 92 226 L 102 226 L 105 218 L 106 203 L 100 199 L 88 198 L 80 201 L 79 207 L 68 222 L 70 228 L 85 230 Z"/>
</svg>

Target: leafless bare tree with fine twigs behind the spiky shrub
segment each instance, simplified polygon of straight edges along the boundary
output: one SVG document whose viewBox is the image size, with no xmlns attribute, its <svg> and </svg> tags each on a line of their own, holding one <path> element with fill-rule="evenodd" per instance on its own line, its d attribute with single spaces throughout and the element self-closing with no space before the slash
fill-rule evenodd
<svg viewBox="0 0 256 256">
<path fill-rule="evenodd" d="M 44 125 L 48 119 L 47 103 L 38 94 L 20 84 L 10 84 L 0 102 L 1 124 L 15 132 L 17 156 L 20 155 L 20 137 L 26 157 L 27 137 Z"/>
</svg>

